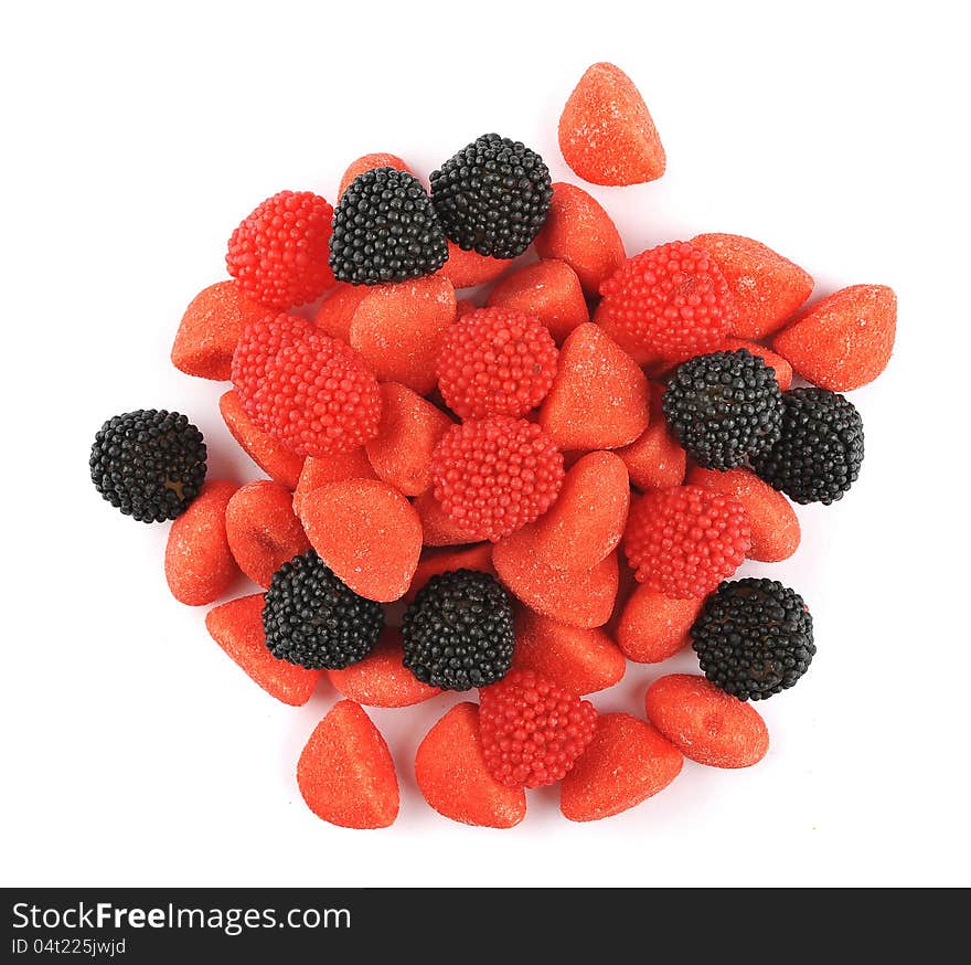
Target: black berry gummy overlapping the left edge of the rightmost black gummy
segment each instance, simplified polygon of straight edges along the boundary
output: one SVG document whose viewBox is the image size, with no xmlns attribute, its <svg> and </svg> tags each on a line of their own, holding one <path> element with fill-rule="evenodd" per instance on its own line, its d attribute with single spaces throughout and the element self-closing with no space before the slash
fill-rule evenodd
<svg viewBox="0 0 971 965">
<path fill-rule="evenodd" d="M 664 391 L 664 416 L 689 455 L 726 471 L 769 448 L 782 426 L 775 371 L 747 349 L 679 365 Z"/>
</svg>

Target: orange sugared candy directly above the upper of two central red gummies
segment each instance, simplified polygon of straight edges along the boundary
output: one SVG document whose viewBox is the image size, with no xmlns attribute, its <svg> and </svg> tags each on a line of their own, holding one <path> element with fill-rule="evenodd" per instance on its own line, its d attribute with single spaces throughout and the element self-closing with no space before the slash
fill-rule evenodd
<svg viewBox="0 0 971 965">
<path fill-rule="evenodd" d="M 506 275 L 497 282 L 486 304 L 535 315 L 549 329 L 556 344 L 562 344 L 578 325 L 590 320 L 580 279 L 559 258 L 544 258 Z"/>
</svg>

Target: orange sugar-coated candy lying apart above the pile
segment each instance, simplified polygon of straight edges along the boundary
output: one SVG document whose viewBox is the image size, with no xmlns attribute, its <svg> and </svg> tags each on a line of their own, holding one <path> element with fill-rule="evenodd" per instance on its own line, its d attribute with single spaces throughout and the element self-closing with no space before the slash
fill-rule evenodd
<svg viewBox="0 0 971 965">
<path fill-rule="evenodd" d="M 666 159 L 640 91 L 620 67 L 587 67 L 559 117 L 563 159 L 594 184 L 641 184 L 664 173 Z"/>
</svg>

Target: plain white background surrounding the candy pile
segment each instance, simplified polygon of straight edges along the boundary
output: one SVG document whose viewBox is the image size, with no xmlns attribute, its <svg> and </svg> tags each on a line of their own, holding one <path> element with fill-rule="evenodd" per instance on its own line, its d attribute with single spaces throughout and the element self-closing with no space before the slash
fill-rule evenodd
<svg viewBox="0 0 971 965">
<path fill-rule="evenodd" d="M 968 72 L 952 2 L 4 4 L 2 245 L 4 884 L 968 883 Z M 778 576 L 819 656 L 760 706 L 744 772 L 687 764 L 594 825 L 531 794 L 511 831 L 427 808 L 414 751 L 448 706 L 375 711 L 398 762 L 384 831 L 303 806 L 300 747 L 333 701 L 276 703 L 162 575 L 166 528 L 111 510 L 92 437 L 138 407 L 189 413 L 211 477 L 256 471 L 223 386 L 168 353 L 226 238 L 284 188 L 334 200 L 345 165 L 427 174 L 476 136 L 536 147 L 584 68 L 636 81 L 668 150 L 653 184 L 591 189 L 636 253 L 757 237 L 817 291 L 899 295 L 885 375 L 853 393 L 860 482 L 800 509 Z M 248 592 L 244 586 L 237 592 Z M 642 712 L 663 668 L 598 707 Z"/>
</svg>

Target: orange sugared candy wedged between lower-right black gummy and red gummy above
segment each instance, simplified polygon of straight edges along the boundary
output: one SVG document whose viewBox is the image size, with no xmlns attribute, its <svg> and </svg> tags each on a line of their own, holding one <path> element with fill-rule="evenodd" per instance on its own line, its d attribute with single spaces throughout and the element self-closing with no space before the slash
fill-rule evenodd
<svg viewBox="0 0 971 965">
<path fill-rule="evenodd" d="M 690 643 L 687 632 L 704 602 L 704 597 L 674 600 L 638 584 L 617 621 L 617 646 L 636 664 L 660 664 L 673 657 Z"/>
</svg>

